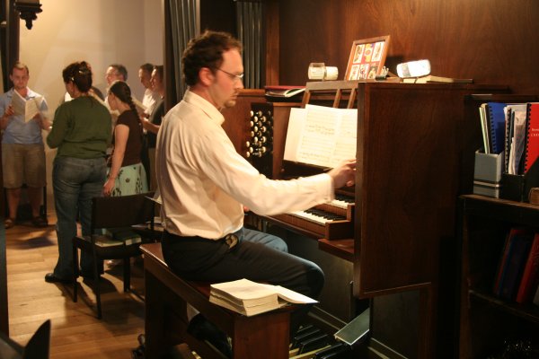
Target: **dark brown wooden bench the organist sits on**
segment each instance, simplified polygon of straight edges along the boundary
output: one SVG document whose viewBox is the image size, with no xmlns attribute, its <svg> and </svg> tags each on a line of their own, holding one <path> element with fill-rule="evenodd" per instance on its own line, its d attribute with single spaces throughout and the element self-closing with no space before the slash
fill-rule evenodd
<svg viewBox="0 0 539 359">
<path fill-rule="evenodd" d="M 161 243 L 140 247 L 146 284 L 146 358 L 187 343 L 203 359 L 223 355 L 187 333 L 186 302 L 232 338 L 233 358 L 288 358 L 290 309 L 245 317 L 209 302 L 209 284 L 182 280 L 164 263 Z"/>
</svg>

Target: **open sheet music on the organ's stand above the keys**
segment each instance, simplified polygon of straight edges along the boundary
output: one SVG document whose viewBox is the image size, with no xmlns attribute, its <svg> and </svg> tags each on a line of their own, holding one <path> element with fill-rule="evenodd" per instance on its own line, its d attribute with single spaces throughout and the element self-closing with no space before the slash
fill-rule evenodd
<svg viewBox="0 0 539 359">
<path fill-rule="evenodd" d="M 291 109 L 284 159 L 333 168 L 356 158 L 358 109 Z"/>
</svg>

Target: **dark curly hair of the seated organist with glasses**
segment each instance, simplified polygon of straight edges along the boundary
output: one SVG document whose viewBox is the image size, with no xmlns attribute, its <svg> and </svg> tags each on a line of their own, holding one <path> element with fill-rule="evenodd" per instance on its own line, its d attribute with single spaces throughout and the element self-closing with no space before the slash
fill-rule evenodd
<svg viewBox="0 0 539 359">
<path fill-rule="evenodd" d="M 190 39 L 181 57 L 185 83 L 190 86 L 198 83 L 202 67 L 215 73 L 223 63 L 223 53 L 233 48 L 241 52 L 242 43 L 227 32 L 204 31 L 198 38 Z"/>
</svg>

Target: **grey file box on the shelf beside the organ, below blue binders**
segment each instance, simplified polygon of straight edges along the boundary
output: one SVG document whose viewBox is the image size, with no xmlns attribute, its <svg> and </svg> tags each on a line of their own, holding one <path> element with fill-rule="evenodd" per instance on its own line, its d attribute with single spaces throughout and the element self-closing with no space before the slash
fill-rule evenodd
<svg viewBox="0 0 539 359">
<path fill-rule="evenodd" d="M 504 159 L 503 152 L 497 154 L 475 151 L 473 194 L 499 198 Z"/>
</svg>

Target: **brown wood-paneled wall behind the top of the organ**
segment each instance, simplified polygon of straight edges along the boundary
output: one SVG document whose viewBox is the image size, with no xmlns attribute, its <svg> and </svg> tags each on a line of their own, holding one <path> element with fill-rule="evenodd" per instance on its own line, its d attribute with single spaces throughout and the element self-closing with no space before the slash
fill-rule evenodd
<svg viewBox="0 0 539 359">
<path fill-rule="evenodd" d="M 279 82 L 311 62 L 344 77 L 352 41 L 391 35 L 386 65 L 428 58 L 432 74 L 539 92 L 536 0 L 280 0 Z"/>
</svg>

